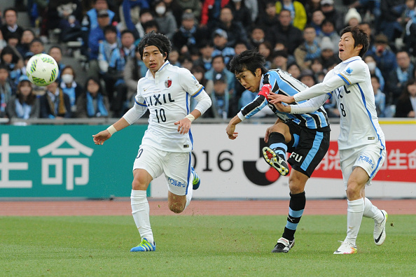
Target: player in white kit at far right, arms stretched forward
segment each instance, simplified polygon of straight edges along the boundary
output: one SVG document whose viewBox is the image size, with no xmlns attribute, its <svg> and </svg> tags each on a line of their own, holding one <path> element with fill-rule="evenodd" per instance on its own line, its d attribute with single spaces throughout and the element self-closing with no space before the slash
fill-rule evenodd
<svg viewBox="0 0 416 277">
<path fill-rule="evenodd" d="M 335 97 L 341 115 L 338 148 L 348 208 L 347 237 L 334 254 L 354 254 L 363 216 L 373 218 L 375 222 L 373 235 L 377 246 L 386 238 L 387 213 L 380 211 L 365 196 L 366 185 L 370 185 L 384 162 L 386 143 L 375 111 L 370 71 L 362 60 L 368 50 L 368 36 L 359 27 L 347 27 L 342 30 L 338 47 L 342 62 L 326 74 L 322 83 L 293 97 L 271 95 L 270 102 L 279 111 L 305 113 Z M 310 100 L 292 104 L 306 99 Z"/>
</svg>

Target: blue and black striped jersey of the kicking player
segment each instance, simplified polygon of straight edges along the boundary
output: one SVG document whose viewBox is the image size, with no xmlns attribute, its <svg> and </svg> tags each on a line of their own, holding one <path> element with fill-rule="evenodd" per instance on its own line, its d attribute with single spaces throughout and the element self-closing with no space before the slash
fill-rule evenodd
<svg viewBox="0 0 416 277">
<path fill-rule="evenodd" d="M 294 94 L 306 90 L 307 85 L 301 83 L 296 78 L 293 78 L 290 73 L 283 71 L 281 69 L 272 69 L 263 75 L 261 80 L 260 87 L 263 85 L 270 84 L 272 87 L 272 92 L 278 94 L 284 94 L 287 96 L 293 96 Z M 303 101 L 299 102 L 302 103 Z M 241 110 L 244 118 L 251 118 L 252 115 L 256 114 L 265 106 L 269 106 L 272 109 L 273 113 L 282 120 L 292 120 L 294 123 L 300 127 L 305 127 L 307 129 L 317 129 L 319 132 L 329 131 L 329 120 L 326 115 L 324 107 L 320 107 L 317 111 L 312 113 L 303 113 L 293 115 L 290 113 L 282 113 L 277 110 L 277 108 L 268 102 L 268 95 L 265 95 L 262 92 L 259 92 L 256 99 L 254 99 L 250 104 L 244 106 Z"/>
</svg>

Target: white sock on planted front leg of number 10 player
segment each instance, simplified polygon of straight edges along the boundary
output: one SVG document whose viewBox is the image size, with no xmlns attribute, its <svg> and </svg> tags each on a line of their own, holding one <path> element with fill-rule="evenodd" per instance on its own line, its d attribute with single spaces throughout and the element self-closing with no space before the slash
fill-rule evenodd
<svg viewBox="0 0 416 277">
<path fill-rule="evenodd" d="M 132 215 L 141 239 L 146 238 L 153 244 L 153 232 L 150 225 L 148 201 L 146 190 L 132 190 L 130 197 L 132 203 Z"/>
</svg>

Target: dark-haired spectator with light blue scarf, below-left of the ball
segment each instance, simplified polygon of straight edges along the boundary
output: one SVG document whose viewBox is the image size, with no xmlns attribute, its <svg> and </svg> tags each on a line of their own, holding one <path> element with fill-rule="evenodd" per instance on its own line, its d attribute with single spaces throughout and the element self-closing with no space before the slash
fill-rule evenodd
<svg viewBox="0 0 416 277">
<path fill-rule="evenodd" d="M 20 80 L 16 94 L 9 99 L 6 106 L 8 118 L 39 118 L 41 104 L 32 89 L 32 83 L 27 79 Z"/>
</svg>

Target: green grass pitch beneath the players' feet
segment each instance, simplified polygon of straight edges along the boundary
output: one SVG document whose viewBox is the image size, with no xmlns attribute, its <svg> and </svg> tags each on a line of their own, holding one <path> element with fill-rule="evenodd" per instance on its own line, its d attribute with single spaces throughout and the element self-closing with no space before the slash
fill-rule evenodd
<svg viewBox="0 0 416 277">
<path fill-rule="evenodd" d="M 286 216 L 153 216 L 153 253 L 130 253 L 130 216 L 0 217 L 0 276 L 415 276 L 416 215 L 389 215 L 373 242 L 363 219 L 357 255 L 333 255 L 345 215 L 303 216 L 296 246 L 271 253 Z"/>
</svg>

